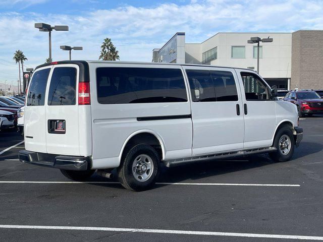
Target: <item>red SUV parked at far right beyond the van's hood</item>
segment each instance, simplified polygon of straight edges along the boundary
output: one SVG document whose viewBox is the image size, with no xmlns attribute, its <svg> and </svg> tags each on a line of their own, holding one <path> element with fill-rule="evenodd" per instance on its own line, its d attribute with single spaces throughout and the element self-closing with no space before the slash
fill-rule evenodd
<svg viewBox="0 0 323 242">
<path fill-rule="evenodd" d="M 323 98 L 312 90 L 295 90 L 286 94 L 284 101 L 296 104 L 298 116 L 323 113 Z"/>
</svg>

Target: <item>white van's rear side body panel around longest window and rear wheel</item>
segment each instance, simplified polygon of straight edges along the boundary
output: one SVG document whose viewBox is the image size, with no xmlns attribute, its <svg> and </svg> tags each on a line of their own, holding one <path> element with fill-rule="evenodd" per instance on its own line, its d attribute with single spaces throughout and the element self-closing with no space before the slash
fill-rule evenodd
<svg viewBox="0 0 323 242">
<path fill-rule="evenodd" d="M 165 103 L 129 103 L 129 104 L 100 104 L 97 101 L 96 68 L 104 67 L 135 67 L 135 68 L 165 68 L 181 69 L 178 65 L 140 65 L 89 63 L 92 139 L 92 167 L 109 168 L 120 162 L 120 154 L 125 142 L 132 134 L 141 130 L 152 130 L 163 137 L 165 143 L 164 159 L 189 157 L 192 155 L 192 120 L 191 118 L 137 121 L 137 117 L 190 115 L 191 106 L 187 83 L 187 102 Z M 111 158 L 115 157 L 115 158 Z M 109 159 L 108 159 L 109 158 Z M 111 160 L 113 160 L 112 163 Z"/>
</svg>

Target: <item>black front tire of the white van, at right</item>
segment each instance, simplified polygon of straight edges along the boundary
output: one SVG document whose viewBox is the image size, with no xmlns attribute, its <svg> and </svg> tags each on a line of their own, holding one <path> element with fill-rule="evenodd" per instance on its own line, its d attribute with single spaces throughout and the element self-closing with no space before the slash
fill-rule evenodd
<svg viewBox="0 0 323 242">
<path fill-rule="evenodd" d="M 284 148 L 282 148 L 281 144 L 280 144 L 280 140 L 282 138 L 284 138 L 284 137 L 286 139 L 289 138 L 288 147 L 290 147 L 289 149 L 286 148 L 288 151 L 285 151 L 285 154 L 283 154 L 284 153 L 284 151 L 283 151 Z M 285 142 L 285 139 L 283 141 Z M 295 149 L 295 140 L 294 140 L 294 136 L 293 136 L 291 126 L 288 126 L 288 125 L 283 126 L 277 131 L 275 139 L 274 139 L 273 147 L 275 147 L 277 149 L 277 151 L 269 153 L 269 155 L 274 161 L 276 161 L 276 162 L 285 162 L 285 161 L 289 161 L 292 158 L 293 153 L 294 153 L 294 149 Z"/>
</svg>

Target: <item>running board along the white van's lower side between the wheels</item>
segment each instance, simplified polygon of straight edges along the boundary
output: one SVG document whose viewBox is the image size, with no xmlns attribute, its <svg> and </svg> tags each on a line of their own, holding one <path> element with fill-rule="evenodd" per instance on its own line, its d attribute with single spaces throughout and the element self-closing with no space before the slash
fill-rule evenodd
<svg viewBox="0 0 323 242">
<path fill-rule="evenodd" d="M 265 147 L 265 148 L 241 150 L 241 151 L 234 151 L 234 152 L 200 155 L 200 156 L 179 158 L 179 159 L 172 159 L 172 160 L 164 160 L 164 163 L 167 167 L 170 167 L 170 166 L 184 165 L 184 164 L 198 162 L 198 161 L 244 157 L 244 156 L 248 156 L 248 155 L 274 152 L 276 150 L 277 149 L 275 147 Z"/>
</svg>

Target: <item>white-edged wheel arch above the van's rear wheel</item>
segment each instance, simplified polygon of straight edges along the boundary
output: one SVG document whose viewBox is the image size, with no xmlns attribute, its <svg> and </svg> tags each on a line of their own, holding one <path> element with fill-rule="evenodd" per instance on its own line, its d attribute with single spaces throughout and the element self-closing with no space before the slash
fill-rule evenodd
<svg viewBox="0 0 323 242">
<path fill-rule="evenodd" d="M 157 151 L 157 153 L 160 155 L 160 158 L 162 160 L 164 160 L 166 151 L 165 151 L 165 142 L 164 142 L 163 138 L 161 138 L 161 136 L 153 130 L 144 129 L 144 130 L 137 130 L 137 131 L 133 132 L 124 141 L 121 151 L 120 151 L 120 154 L 119 154 L 119 163 L 120 164 L 122 161 L 122 156 L 123 156 L 124 152 L 127 151 L 127 148 L 129 146 L 131 146 L 132 144 L 134 144 L 136 141 L 141 141 L 144 138 L 148 138 L 147 139 L 148 142 L 146 142 L 145 144 L 150 143 L 150 145 L 159 145 L 160 146 L 160 151 L 159 152 Z"/>
</svg>

